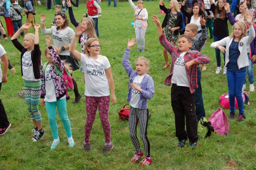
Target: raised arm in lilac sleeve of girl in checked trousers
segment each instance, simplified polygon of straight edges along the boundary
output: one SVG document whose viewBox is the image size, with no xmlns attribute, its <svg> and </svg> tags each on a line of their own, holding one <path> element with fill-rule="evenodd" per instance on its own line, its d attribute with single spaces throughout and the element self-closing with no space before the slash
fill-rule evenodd
<svg viewBox="0 0 256 170">
<path fill-rule="evenodd" d="M 127 48 L 124 52 L 124 56 L 122 57 L 122 65 L 123 65 L 124 69 L 126 70 L 129 77 L 132 72 L 135 72 L 132 69 L 132 67 L 130 65 L 130 61 L 129 61 L 130 50 L 132 49 L 132 46 L 134 46 L 134 44 L 136 44 L 135 38 L 132 38 L 131 41 L 130 41 L 130 39 L 128 40 Z"/>
</svg>

